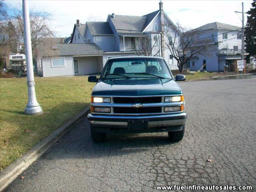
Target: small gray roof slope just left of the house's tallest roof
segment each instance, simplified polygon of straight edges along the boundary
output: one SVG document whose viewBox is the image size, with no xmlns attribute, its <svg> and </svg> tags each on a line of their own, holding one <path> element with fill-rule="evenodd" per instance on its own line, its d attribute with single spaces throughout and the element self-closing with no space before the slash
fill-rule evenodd
<svg viewBox="0 0 256 192">
<path fill-rule="evenodd" d="M 108 22 L 86 22 L 86 28 L 92 35 L 113 35 Z"/>
</svg>

